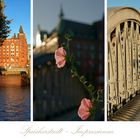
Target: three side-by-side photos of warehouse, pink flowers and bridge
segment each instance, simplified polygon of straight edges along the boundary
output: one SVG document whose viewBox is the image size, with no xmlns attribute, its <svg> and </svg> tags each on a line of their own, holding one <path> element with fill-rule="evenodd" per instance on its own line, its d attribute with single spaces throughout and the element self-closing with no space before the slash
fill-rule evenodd
<svg viewBox="0 0 140 140">
<path fill-rule="evenodd" d="M 137 2 L 0 0 L 0 121 L 139 121 Z"/>
</svg>

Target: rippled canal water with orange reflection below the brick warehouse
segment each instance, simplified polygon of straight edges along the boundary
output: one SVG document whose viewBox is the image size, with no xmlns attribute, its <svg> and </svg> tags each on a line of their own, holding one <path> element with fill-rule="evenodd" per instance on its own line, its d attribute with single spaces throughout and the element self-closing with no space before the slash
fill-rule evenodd
<svg viewBox="0 0 140 140">
<path fill-rule="evenodd" d="M 0 121 L 30 120 L 30 87 L 20 75 L 0 76 Z"/>
</svg>

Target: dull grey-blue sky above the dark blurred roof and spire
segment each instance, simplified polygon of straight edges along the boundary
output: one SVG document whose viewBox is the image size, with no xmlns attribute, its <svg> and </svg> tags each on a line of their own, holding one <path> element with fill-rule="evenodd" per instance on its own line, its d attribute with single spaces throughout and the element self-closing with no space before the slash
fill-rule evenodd
<svg viewBox="0 0 140 140">
<path fill-rule="evenodd" d="M 33 0 L 34 35 L 38 24 L 49 32 L 57 25 L 61 5 L 65 18 L 89 24 L 104 13 L 104 0 Z"/>
</svg>

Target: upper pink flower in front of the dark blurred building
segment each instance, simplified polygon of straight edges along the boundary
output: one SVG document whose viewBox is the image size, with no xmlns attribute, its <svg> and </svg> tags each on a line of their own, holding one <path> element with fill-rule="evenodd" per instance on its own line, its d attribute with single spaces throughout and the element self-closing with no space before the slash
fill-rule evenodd
<svg viewBox="0 0 140 140">
<path fill-rule="evenodd" d="M 66 51 L 63 47 L 60 47 L 55 51 L 55 60 L 58 68 L 64 67 L 66 63 Z"/>
</svg>

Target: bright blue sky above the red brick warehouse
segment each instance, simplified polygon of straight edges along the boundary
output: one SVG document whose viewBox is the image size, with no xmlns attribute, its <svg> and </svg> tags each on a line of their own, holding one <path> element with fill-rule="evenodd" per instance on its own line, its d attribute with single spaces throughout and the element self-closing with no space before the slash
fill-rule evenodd
<svg viewBox="0 0 140 140">
<path fill-rule="evenodd" d="M 14 33 L 17 34 L 20 25 L 22 25 L 27 42 L 30 44 L 30 0 L 4 0 L 4 3 L 6 5 L 4 13 L 7 19 L 13 19 L 10 24 L 9 37 Z"/>
</svg>

